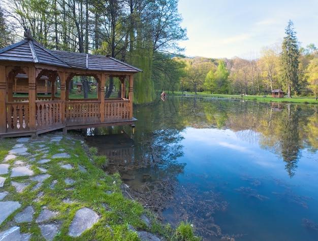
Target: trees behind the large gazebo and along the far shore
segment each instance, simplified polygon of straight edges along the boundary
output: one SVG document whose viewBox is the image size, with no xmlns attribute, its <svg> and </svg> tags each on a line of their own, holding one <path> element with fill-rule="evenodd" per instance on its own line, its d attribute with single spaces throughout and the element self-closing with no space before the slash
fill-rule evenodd
<svg viewBox="0 0 318 241">
<path fill-rule="evenodd" d="M 281 43 L 264 47 L 257 59 L 184 56 L 181 22 L 178 0 L 7 0 L 0 7 L 0 47 L 30 30 L 48 49 L 111 55 L 143 70 L 134 78 L 137 104 L 163 91 L 266 95 L 281 89 L 288 97 L 317 98 L 318 50 L 300 48 L 291 20 Z"/>
</svg>

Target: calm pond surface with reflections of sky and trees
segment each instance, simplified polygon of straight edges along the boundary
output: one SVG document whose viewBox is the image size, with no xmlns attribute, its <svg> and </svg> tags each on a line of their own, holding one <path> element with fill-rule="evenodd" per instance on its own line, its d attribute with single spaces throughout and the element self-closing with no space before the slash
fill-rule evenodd
<svg viewBox="0 0 318 241">
<path fill-rule="evenodd" d="M 87 142 L 164 222 L 204 240 L 318 240 L 316 106 L 180 97 L 134 117 L 134 134 L 95 129 Z"/>
</svg>

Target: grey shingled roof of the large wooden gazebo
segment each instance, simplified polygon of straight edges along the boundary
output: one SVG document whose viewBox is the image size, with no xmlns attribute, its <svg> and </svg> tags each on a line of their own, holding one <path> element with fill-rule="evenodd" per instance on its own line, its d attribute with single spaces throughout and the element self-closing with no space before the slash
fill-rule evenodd
<svg viewBox="0 0 318 241">
<path fill-rule="evenodd" d="M 118 59 L 85 53 L 48 50 L 33 38 L 0 49 L 0 61 L 33 62 L 91 71 L 142 72 Z"/>
</svg>

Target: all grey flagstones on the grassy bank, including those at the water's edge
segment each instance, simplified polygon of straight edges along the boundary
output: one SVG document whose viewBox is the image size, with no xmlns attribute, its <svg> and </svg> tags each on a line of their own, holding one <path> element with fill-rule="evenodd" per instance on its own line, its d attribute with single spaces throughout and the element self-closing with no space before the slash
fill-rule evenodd
<svg viewBox="0 0 318 241">
<path fill-rule="evenodd" d="M 22 209 L 21 203 L 8 198 L 10 197 L 10 193 L 4 190 L 4 185 L 11 185 L 15 192 L 21 193 L 31 183 L 37 182 L 31 189 L 31 191 L 37 191 L 37 189 L 42 186 L 43 182 L 51 177 L 51 175 L 47 174 L 48 169 L 46 168 L 50 167 L 47 163 L 54 158 L 63 158 L 64 160 L 70 158 L 70 155 L 62 149 L 58 150 L 59 153 L 52 155 L 51 159 L 46 158 L 46 153 L 48 153 L 46 143 L 59 143 L 62 138 L 62 135 L 44 135 L 44 137 L 37 139 L 21 137 L 16 139 L 17 144 L 10 150 L 4 160 L 0 160 L 0 225 L 8 224 L 5 227 L 11 227 L 0 232 L 0 241 L 29 240 L 32 235 L 31 233 L 20 232 L 19 225 L 22 223 L 35 222 L 39 226 L 41 234 L 46 240 L 52 240 L 56 234 L 58 234 L 61 227 L 61 223 L 56 221 L 58 220 L 58 212 L 48 210 L 43 206 L 40 214 L 35 213 L 35 205 L 40 201 L 41 196 L 43 196 L 42 192 L 39 191 L 37 198 Z M 39 149 L 37 149 L 37 154 L 33 156 L 30 155 L 27 149 L 28 145 L 39 147 Z M 35 161 L 39 158 L 41 158 L 39 161 Z M 20 159 L 23 159 L 23 161 Z M 33 168 L 31 168 L 31 166 L 33 166 Z M 35 170 L 34 166 L 36 166 L 38 170 Z M 60 163 L 60 167 L 65 169 L 74 168 L 74 166 L 69 163 Z M 86 172 L 86 168 L 81 165 L 78 165 L 77 170 L 83 173 Z M 10 179 L 13 178 L 16 181 L 8 183 L 6 177 L 10 177 Z M 56 180 L 52 181 L 50 184 L 51 189 L 54 189 L 55 183 Z M 65 179 L 65 183 L 67 185 L 72 185 L 75 181 L 67 178 Z M 12 214 L 15 215 L 13 216 Z M 145 218 L 145 222 L 147 223 L 147 218 L 142 218 Z M 93 210 L 85 207 L 79 209 L 69 226 L 68 235 L 71 237 L 79 237 L 85 230 L 90 229 L 94 223 L 97 223 L 99 219 L 100 217 Z M 160 240 L 156 236 L 145 231 L 137 233 L 141 240 Z"/>
</svg>

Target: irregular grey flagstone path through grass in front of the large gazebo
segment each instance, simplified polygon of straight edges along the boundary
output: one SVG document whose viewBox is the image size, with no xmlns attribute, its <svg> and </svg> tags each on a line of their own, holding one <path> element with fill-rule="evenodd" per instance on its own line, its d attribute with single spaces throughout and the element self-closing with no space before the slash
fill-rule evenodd
<svg viewBox="0 0 318 241">
<path fill-rule="evenodd" d="M 37 153 L 41 155 L 42 157 L 45 156 L 45 153 L 47 153 L 47 147 L 45 145 L 46 142 L 60 142 L 62 139 L 62 136 L 52 136 L 49 140 L 43 140 L 41 143 L 39 141 L 37 142 L 37 145 L 41 148 L 41 150 L 38 150 Z M 35 171 L 30 168 L 30 163 L 35 160 L 36 156 L 30 156 L 30 154 L 27 152 L 27 148 L 25 147 L 25 143 L 30 143 L 32 139 L 23 137 L 17 139 L 17 144 L 13 147 L 12 150 L 10 150 L 9 154 L 5 157 L 5 159 L 0 164 L 0 175 L 2 176 L 8 176 L 10 175 L 10 178 L 15 177 L 24 177 L 24 181 L 14 182 L 11 181 L 11 186 L 15 188 L 15 191 L 18 193 L 23 192 L 23 190 L 30 185 L 32 181 L 38 182 L 36 184 L 32 191 L 38 189 L 41 187 L 44 180 L 49 178 L 51 175 L 46 174 L 47 169 L 41 167 L 42 164 L 45 164 L 50 161 L 50 159 L 41 159 L 38 161 L 37 168 L 40 171 L 40 174 L 35 175 Z M 62 151 L 62 150 L 61 150 Z M 28 157 L 27 159 L 30 160 L 30 163 L 26 163 L 24 161 L 19 160 L 19 157 Z M 70 158 L 70 155 L 68 153 L 57 153 L 52 156 L 52 158 Z M 25 158 L 23 158 L 25 159 Z M 13 160 L 13 165 L 7 164 L 8 161 Z M 11 162 L 12 163 L 12 162 Z M 32 163 L 34 165 L 34 163 Z M 62 168 L 73 168 L 70 164 L 62 165 Z M 80 171 L 86 171 L 85 167 L 80 167 Z M 9 194 L 9 192 L 2 191 L 2 187 L 6 183 L 5 177 L 0 176 L 0 225 L 3 222 L 9 222 L 13 221 L 15 223 L 15 226 L 12 228 L 9 228 L 3 232 L 0 232 L 0 240 L 29 240 L 31 237 L 30 233 L 20 233 L 20 223 L 24 222 L 33 222 L 34 221 L 34 215 L 35 211 L 32 205 L 27 206 L 25 209 L 18 212 L 12 220 L 7 220 L 7 218 L 13 214 L 15 211 L 21 208 L 21 204 L 14 200 L 6 200 L 6 196 Z M 66 183 L 73 183 L 73 180 L 65 180 Z M 8 185 L 8 184 L 7 184 Z M 54 187 L 53 187 L 54 188 Z M 42 194 L 43 195 L 43 194 Z M 39 193 L 39 196 L 41 196 L 41 193 Z M 37 202 L 38 200 L 34 200 L 34 202 Z M 39 225 L 41 233 L 43 237 L 46 240 L 52 240 L 54 236 L 58 233 L 60 225 L 56 224 L 55 222 L 50 222 L 50 219 L 56 217 L 58 215 L 57 212 L 53 212 L 50 210 L 47 210 L 43 208 L 40 215 L 35 220 L 36 223 Z M 92 227 L 92 225 L 96 222 L 98 222 L 99 216 L 96 212 L 94 212 L 91 209 L 88 208 L 82 208 L 77 211 L 75 214 L 75 217 L 70 225 L 69 228 L 69 235 L 73 237 L 80 236 L 85 230 Z"/>
</svg>

